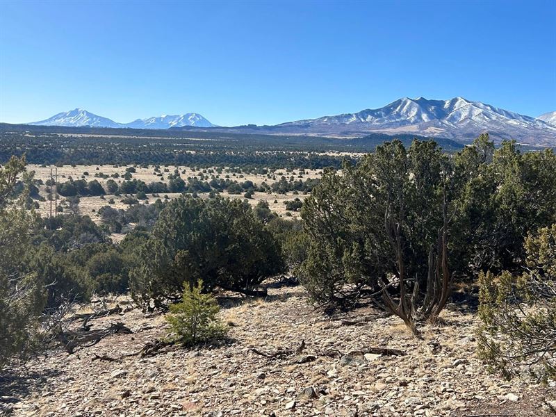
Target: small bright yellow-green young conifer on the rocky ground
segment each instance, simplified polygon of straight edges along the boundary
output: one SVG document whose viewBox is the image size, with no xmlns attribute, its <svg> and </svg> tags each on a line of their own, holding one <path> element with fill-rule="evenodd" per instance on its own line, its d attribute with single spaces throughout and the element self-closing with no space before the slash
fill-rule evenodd
<svg viewBox="0 0 556 417">
<path fill-rule="evenodd" d="M 218 320 L 218 302 L 211 294 L 203 294 L 203 282 L 183 285 L 181 302 L 170 305 L 166 316 L 177 341 L 185 346 L 218 341 L 227 334 L 227 327 Z"/>
</svg>

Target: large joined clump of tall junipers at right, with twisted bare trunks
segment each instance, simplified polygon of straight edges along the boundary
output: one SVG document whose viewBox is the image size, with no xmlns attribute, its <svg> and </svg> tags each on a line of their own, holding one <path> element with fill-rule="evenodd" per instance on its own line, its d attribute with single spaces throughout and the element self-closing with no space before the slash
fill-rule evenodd
<svg viewBox="0 0 556 417">
<path fill-rule="evenodd" d="M 386 142 L 341 176 L 325 171 L 304 200 L 310 245 L 300 281 L 313 300 L 336 306 L 387 286 L 386 308 L 436 320 L 452 276 L 525 262 L 525 236 L 556 221 L 554 172 L 552 150 L 495 150 L 488 135 L 453 157 L 432 141 Z"/>
</svg>

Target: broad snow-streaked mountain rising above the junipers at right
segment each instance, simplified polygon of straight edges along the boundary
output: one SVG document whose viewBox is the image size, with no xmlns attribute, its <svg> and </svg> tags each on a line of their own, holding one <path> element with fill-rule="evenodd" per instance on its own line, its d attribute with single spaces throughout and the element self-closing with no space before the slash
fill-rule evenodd
<svg viewBox="0 0 556 417">
<path fill-rule="evenodd" d="M 482 132 L 489 132 L 495 140 L 515 139 L 534 145 L 556 145 L 556 126 L 462 97 L 450 100 L 404 97 L 382 108 L 288 122 L 274 128 L 292 133 L 300 129 L 313 134 L 342 136 L 371 131 L 393 135 L 414 133 L 461 142 L 473 140 Z"/>
</svg>

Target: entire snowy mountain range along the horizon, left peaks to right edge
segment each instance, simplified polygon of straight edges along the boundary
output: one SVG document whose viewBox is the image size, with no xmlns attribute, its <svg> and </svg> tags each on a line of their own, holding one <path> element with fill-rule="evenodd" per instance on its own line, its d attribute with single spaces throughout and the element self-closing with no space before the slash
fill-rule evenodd
<svg viewBox="0 0 556 417">
<path fill-rule="evenodd" d="M 198 113 L 162 115 L 122 124 L 80 108 L 66 113 L 58 113 L 47 120 L 31 124 L 136 129 L 202 129 L 339 138 L 354 138 L 365 136 L 368 133 L 385 133 L 389 136 L 412 134 L 432 138 L 448 138 L 461 143 L 471 142 L 480 133 L 488 132 L 491 138 L 497 142 L 515 139 L 526 145 L 556 146 L 556 112 L 534 118 L 463 97 L 448 100 L 404 97 L 382 108 L 297 120 L 272 126 L 256 126 L 254 124 L 232 127 L 215 126 Z"/>
</svg>

